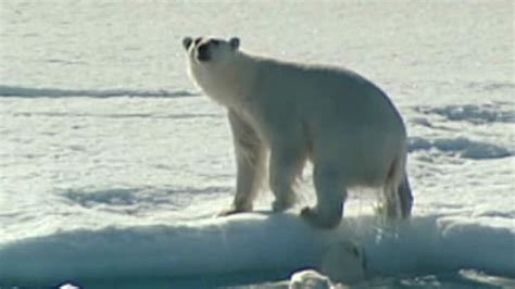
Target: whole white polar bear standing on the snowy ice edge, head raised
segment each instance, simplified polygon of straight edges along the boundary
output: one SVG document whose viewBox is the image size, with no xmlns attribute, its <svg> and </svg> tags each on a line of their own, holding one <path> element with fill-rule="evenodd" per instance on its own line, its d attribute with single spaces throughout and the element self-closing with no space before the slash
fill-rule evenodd
<svg viewBox="0 0 515 289">
<path fill-rule="evenodd" d="M 343 68 L 248 53 L 236 37 L 186 37 L 183 46 L 191 78 L 228 112 L 237 184 L 222 215 L 252 210 L 267 162 L 273 210 L 291 208 L 292 185 L 311 161 L 317 202 L 301 216 L 315 227 L 337 226 L 357 186 L 381 188 L 386 216 L 410 216 L 404 123 L 374 84 Z"/>
</svg>

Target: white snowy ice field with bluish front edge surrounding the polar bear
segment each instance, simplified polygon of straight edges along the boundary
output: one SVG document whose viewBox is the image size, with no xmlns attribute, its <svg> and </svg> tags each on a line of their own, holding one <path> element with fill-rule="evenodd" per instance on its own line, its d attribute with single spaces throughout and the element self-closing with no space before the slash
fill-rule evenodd
<svg viewBox="0 0 515 289">
<path fill-rule="evenodd" d="M 365 250 L 357 288 L 515 288 L 513 1 L 0 2 L 0 288 L 284 288 L 328 243 Z M 335 230 L 291 212 L 213 217 L 235 165 L 184 36 L 340 65 L 410 135 L 413 218 L 356 190 Z"/>
</svg>

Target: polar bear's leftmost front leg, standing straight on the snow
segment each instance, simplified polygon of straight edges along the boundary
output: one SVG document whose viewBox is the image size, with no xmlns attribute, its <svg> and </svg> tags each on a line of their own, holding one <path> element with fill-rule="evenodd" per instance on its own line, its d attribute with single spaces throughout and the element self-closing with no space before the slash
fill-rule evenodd
<svg viewBox="0 0 515 289">
<path fill-rule="evenodd" d="M 252 211 L 252 203 L 263 181 L 266 161 L 264 143 L 255 130 L 236 112 L 229 110 L 228 116 L 237 163 L 236 196 L 231 208 L 219 215 Z"/>
</svg>

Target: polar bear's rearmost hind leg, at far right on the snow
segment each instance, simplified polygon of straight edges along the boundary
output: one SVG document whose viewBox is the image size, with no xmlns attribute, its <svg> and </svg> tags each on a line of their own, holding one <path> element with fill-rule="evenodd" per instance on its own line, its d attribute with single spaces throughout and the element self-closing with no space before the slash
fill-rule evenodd
<svg viewBox="0 0 515 289">
<path fill-rule="evenodd" d="M 384 187 L 381 211 L 388 218 L 407 218 L 411 215 L 413 196 L 405 167 L 406 153 L 401 153 L 392 162 Z"/>
</svg>

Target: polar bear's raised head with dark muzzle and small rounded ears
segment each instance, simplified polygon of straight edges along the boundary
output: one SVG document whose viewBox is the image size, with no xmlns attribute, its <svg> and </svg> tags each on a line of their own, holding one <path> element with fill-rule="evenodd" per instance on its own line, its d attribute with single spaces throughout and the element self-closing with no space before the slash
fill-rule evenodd
<svg viewBox="0 0 515 289">
<path fill-rule="evenodd" d="M 188 52 L 189 61 L 198 65 L 212 65 L 226 63 L 238 50 L 240 40 L 233 37 L 229 40 L 199 37 L 185 37 L 183 46 Z"/>
</svg>

